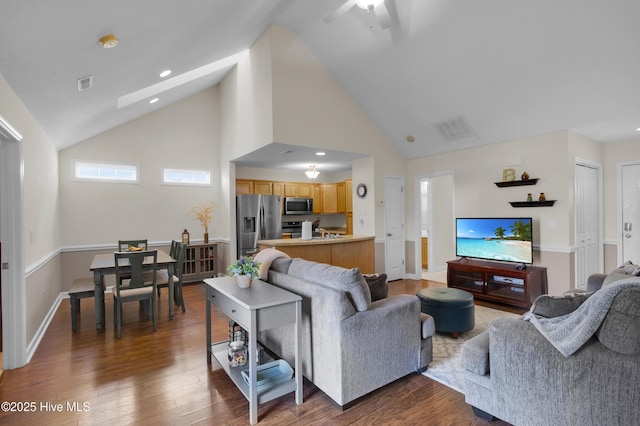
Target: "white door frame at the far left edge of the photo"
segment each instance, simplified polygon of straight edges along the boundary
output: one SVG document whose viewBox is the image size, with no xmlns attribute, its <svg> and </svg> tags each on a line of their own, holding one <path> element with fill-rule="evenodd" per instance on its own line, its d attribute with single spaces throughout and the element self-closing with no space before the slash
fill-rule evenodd
<svg viewBox="0 0 640 426">
<path fill-rule="evenodd" d="M 2 264 L 2 364 L 27 363 L 26 280 L 24 268 L 24 203 L 22 142 L 0 141 L 0 233 Z"/>
</svg>

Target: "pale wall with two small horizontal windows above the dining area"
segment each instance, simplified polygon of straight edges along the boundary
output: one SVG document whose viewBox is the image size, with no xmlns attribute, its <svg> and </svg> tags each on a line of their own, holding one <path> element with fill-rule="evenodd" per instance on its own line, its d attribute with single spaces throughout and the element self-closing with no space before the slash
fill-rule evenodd
<svg viewBox="0 0 640 426">
<path fill-rule="evenodd" d="M 193 241 L 204 230 L 189 210 L 204 200 L 221 202 L 218 166 L 220 123 L 217 87 L 159 109 L 60 152 L 63 245 L 115 245 L 118 239 Z M 135 163 L 140 182 L 76 181 L 74 160 Z M 162 184 L 162 168 L 206 169 L 208 187 Z M 226 234 L 214 213 L 210 239 Z"/>
</svg>

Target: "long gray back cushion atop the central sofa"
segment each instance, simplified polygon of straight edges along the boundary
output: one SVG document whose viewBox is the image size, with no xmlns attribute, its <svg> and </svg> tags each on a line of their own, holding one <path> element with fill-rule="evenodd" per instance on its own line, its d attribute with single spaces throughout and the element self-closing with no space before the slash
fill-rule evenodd
<svg viewBox="0 0 640 426">
<path fill-rule="evenodd" d="M 344 291 L 357 311 L 371 307 L 371 291 L 358 268 L 345 269 L 300 258 L 291 261 L 290 275 Z"/>
</svg>

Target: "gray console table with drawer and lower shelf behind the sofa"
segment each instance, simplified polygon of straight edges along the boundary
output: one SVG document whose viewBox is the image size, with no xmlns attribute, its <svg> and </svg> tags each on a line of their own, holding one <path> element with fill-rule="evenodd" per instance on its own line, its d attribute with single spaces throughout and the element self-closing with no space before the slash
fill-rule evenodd
<svg viewBox="0 0 640 426">
<path fill-rule="evenodd" d="M 300 357 L 300 321 L 302 298 L 260 280 L 253 280 L 251 287 L 240 288 L 233 277 L 205 279 L 207 315 L 207 362 L 214 357 L 233 383 L 249 401 L 249 421 L 258 422 L 258 405 L 295 391 L 296 404 L 302 404 L 302 359 Z M 248 362 L 242 367 L 230 367 L 228 341 L 211 342 L 211 305 L 215 305 L 226 316 L 249 332 Z M 257 341 L 259 331 L 286 324 L 295 324 L 295 366 L 293 378 L 258 391 L 257 388 Z M 241 371 L 249 369 L 249 384 L 245 383 Z"/>
</svg>

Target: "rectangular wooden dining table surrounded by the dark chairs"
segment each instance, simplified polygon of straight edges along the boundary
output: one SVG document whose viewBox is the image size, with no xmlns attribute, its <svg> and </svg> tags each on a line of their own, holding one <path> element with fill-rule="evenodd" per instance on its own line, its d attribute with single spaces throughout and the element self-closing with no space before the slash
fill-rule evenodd
<svg viewBox="0 0 640 426">
<path fill-rule="evenodd" d="M 167 252 L 163 250 L 157 250 L 158 258 L 156 261 L 157 269 L 167 269 L 169 275 L 169 319 L 173 319 L 173 297 L 174 297 L 174 287 L 173 287 L 173 271 L 172 265 L 176 263 L 176 260 L 171 257 Z M 144 264 L 151 265 L 153 260 L 151 257 L 146 258 Z M 120 265 L 122 268 L 122 264 Z M 127 272 L 126 265 L 124 266 L 124 271 Z M 113 253 L 101 253 L 96 254 L 91 261 L 91 266 L 89 267 L 91 272 L 93 273 L 93 283 L 94 283 L 94 299 L 95 299 L 95 311 L 96 311 L 96 330 L 101 331 L 104 330 L 105 327 L 105 309 L 104 309 L 104 293 L 105 293 L 105 283 L 104 277 L 106 275 L 115 275 L 116 273 L 116 264 Z"/>
</svg>

